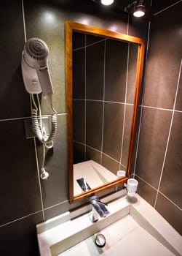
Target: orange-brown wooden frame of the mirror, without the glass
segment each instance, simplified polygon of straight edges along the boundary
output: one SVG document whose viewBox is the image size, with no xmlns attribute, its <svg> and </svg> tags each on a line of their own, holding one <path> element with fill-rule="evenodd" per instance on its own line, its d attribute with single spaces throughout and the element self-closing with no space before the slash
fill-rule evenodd
<svg viewBox="0 0 182 256">
<path fill-rule="evenodd" d="M 108 184 L 104 184 L 100 187 L 90 189 L 87 192 L 74 196 L 74 152 L 73 152 L 73 67 L 72 67 L 72 35 L 73 31 L 94 34 L 101 37 L 107 37 L 109 39 L 117 39 L 122 42 L 132 42 L 138 44 L 138 59 L 137 69 L 135 76 L 135 97 L 132 113 L 132 127 L 130 132 L 130 147 L 127 162 L 127 176 L 124 178 L 118 178 L 115 181 L 111 181 Z M 135 146 L 135 134 L 138 120 L 138 107 L 141 97 L 141 83 L 143 78 L 143 62 L 144 62 L 145 44 L 143 39 L 138 37 L 132 37 L 126 34 L 120 34 L 115 31 L 108 31 L 106 29 L 99 29 L 93 26 L 87 26 L 80 23 L 74 23 L 71 21 L 66 22 L 66 97 L 67 97 L 67 113 L 68 113 L 68 194 L 69 202 L 73 203 L 77 200 L 84 199 L 96 192 L 101 192 L 111 187 L 116 187 L 119 184 L 123 184 L 130 177 L 132 169 L 132 158 Z"/>
</svg>

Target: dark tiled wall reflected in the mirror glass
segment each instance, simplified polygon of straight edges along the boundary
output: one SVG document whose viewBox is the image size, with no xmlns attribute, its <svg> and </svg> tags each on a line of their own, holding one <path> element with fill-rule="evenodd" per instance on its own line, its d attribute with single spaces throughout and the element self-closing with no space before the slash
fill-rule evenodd
<svg viewBox="0 0 182 256">
<path fill-rule="evenodd" d="M 126 170 L 138 45 L 74 32 L 74 163 Z"/>
</svg>

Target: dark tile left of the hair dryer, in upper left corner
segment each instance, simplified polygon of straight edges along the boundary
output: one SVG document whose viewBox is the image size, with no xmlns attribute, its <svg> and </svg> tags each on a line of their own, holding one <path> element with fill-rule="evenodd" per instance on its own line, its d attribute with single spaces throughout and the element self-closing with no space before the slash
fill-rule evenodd
<svg viewBox="0 0 182 256">
<path fill-rule="evenodd" d="M 21 1 L 6 1 L 1 10 L 0 119 L 30 116 L 30 98 L 20 68 L 25 42 Z"/>
</svg>

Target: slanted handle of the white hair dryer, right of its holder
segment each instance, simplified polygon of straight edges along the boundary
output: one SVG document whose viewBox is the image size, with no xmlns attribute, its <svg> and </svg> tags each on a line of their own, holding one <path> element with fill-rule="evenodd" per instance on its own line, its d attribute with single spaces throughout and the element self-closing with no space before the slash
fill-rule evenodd
<svg viewBox="0 0 182 256">
<path fill-rule="evenodd" d="M 50 104 L 52 104 L 52 94 L 54 91 L 52 87 L 52 80 L 50 78 L 49 68 L 47 65 L 44 67 L 37 67 L 36 72 L 44 98 L 47 99 Z"/>
</svg>

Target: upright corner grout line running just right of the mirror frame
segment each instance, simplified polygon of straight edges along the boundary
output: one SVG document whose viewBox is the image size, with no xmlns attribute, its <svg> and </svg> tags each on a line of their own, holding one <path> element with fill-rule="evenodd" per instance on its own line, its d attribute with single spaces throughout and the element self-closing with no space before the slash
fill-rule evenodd
<svg viewBox="0 0 182 256">
<path fill-rule="evenodd" d="M 140 140 L 140 135 L 141 135 L 141 119 L 143 116 L 143 100 L 144 100 L 144 91 L 145 91 L 145 82 L 146 82 L 146 65 L 147 65 L 147 57 L 148 57 L 148 50 L 149 50 L 150 30 L 151 30 L 151 21 L 149 21 L 149 29 L 148 29 L 147 45 L 146 45 L 146 62 L 145 62 L 144 77 L 143 77 L 143 95 L 142 95 L 142 100 L 141 100 L 141 114 L 140 114 L 140 121 L 139 121 L 139 127 L 138 127 L 138 138 L 137 138 L 137 143 L 136 143 L 135 163 L 134 163 L 134 167 L 133 167 L 134 176 L 135 176 L 135 170 L 136 170 L 136 162 L 137 162 L 137 158 L 138 158 L 139 140 Z"/>
</svg>

